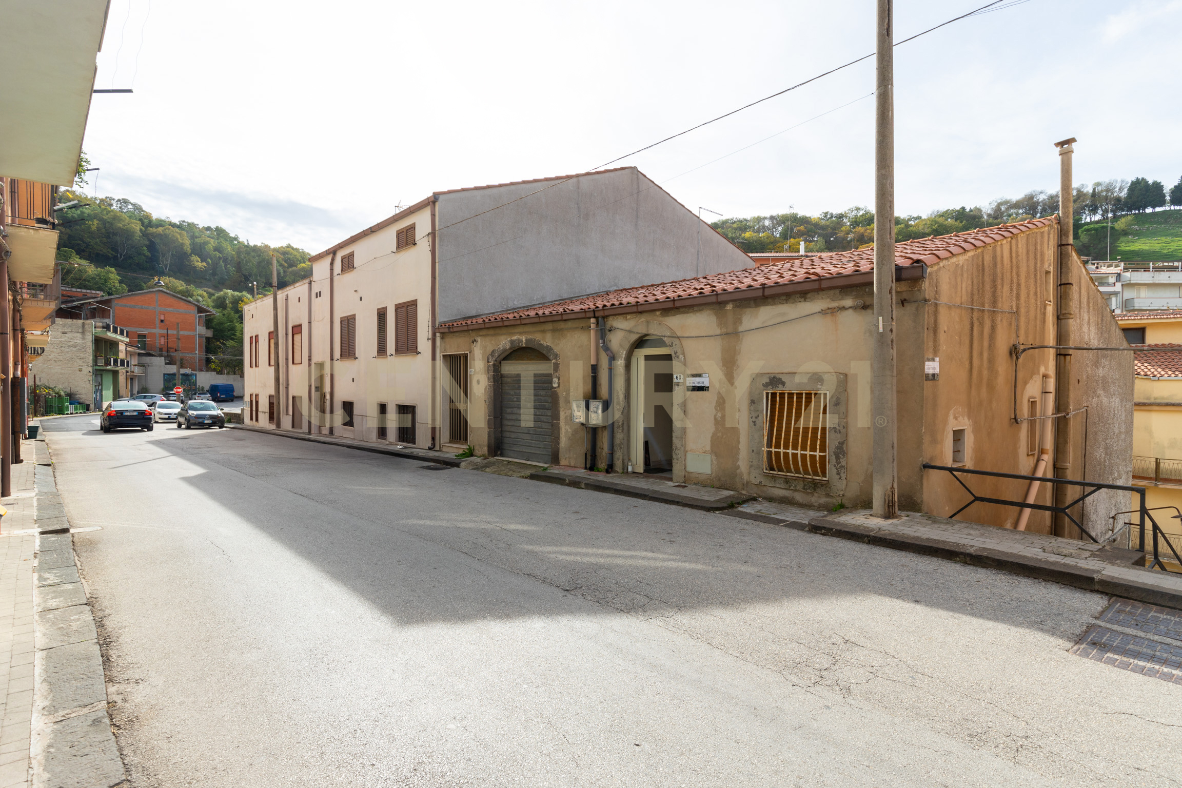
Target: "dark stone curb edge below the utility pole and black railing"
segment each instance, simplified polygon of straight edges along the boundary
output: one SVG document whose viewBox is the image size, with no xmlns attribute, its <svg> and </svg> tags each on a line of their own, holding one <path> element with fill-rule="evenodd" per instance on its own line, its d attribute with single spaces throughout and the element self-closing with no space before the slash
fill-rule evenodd
<svg viewBox="0 0 1182 788">
<path fill-rule="evenodd" d="M 1096 591 L 1112 597 L 1124 597 L 1137 601 L 1182 610 L 1182 593 L 1152 582 L 1154 574 L 1139 568 L 1128 571 L 1116 566 L 1113 571 L 1099 567 L 1083 567 L 1060 561 L 1043 560 L 1034 556 L 1007 553 L 989 547 L 972 547 L 924 536 L 913 536 L 894 532 L 884 532 L 868 526 L 842 522 L 830 517 L 813 517 L 808 522 L 784 520 L 772 515 L 753 512 L 729 510 L 723 514 L 743 520 L 754 520 L 769 526 L 794 528 L 823 536 L 836 536 L 850 541 L 889 547 L 891 549 L 930 555 L 957 564 L 967 564 L 986 569 L 998 569 L 1020 574 L 1026 578 L 1048 580 L 1084 591 Z M 1136 572 L 1144 578 L 1124 577 Z M 1176 577 L 1176 575 L 1175 575 Z"/>
</svg>

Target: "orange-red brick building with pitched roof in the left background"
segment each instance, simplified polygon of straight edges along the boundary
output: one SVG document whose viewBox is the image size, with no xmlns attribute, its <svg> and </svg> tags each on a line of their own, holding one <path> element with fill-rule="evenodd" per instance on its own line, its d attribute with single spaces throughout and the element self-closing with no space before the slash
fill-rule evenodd
<svg viewBox="0 0 1182 788">
<path fill-rule="evenodd" d="M 163 288 L 123 295 L 63 299 L 58 315 L 74 320 L 110 320 L 125 328 L 141 350 L 173 362 L 180 353 L 183 369 L 206 369 L 206 339 L 212 334 L 206 317 L 214 311 Z"/>
</svg>

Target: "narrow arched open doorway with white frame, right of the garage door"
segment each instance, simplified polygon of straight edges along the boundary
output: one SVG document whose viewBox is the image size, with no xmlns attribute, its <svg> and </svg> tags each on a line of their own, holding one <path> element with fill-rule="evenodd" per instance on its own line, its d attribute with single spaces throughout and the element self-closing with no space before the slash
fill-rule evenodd
<svg viewBox="0 0 1182 788">
<path fill-rule="evenodd" d="M 658 337 L 648 337 L 632 351 L 634 471 L 673 473 L 673 353 Z"/>
</svg>

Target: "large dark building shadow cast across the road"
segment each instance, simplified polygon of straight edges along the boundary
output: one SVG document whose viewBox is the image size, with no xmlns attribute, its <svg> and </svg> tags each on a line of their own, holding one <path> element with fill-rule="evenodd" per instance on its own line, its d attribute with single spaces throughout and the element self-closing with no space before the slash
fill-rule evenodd
<svg viewBox="0 0 1182 788">
<path fill-rule="evenodd" d="M 183 482 L 210 502 L 402 624 L 585 614 L 582 600 L 660 617 L 775 605 L 788 620 L 816 621 L 831 614 L 826 600 L 855 595 L 1064 636 L 1065 620 L 1104 601 L 720 514 L 475 470 L 429 473 L 422 460 L 258 432 L 186 430 L 154 445 L 200 468 Z"/>
</svg>

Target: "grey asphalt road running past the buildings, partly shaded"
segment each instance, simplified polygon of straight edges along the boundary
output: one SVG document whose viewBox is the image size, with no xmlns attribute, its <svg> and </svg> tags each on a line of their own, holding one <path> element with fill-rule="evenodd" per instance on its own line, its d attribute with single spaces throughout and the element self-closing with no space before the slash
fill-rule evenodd
<svg viewBox="0 0 1182 788">
<path fill-rule="evenodd" d="M 44 422 L 137 788 L 1175 786 L 1102 595 L 245 430 Z"/>
</svg>

